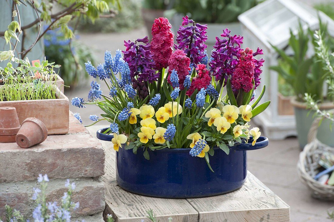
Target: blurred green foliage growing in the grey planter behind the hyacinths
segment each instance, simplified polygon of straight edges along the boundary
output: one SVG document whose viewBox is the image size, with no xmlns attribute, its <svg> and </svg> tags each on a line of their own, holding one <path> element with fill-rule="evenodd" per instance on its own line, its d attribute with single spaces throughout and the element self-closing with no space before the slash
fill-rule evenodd
<svg viewBox="0 0 334 222">
<path fill-rule="evenodd" d="M 238 15 L 257 3 L 257 0 L 175 0 L 174 8 L 198 22 L 226 23 L 238 21 Z"/>
</svg>

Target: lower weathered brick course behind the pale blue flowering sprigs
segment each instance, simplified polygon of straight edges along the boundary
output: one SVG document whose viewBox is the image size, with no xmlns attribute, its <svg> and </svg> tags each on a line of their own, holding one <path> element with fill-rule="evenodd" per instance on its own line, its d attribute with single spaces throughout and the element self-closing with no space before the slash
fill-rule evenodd
<svg viewBox="0 0 334 222">
<path fill-rule="evenodd" d="M 87 216 L 100 213 L 105 208 L 105 189 L 103 182 L 97 182 L 92 178 L 71 179 L 76 188 L 72 194 L 72 201 L 79 202 L 79 208 L 72 214 L 73 217 Z M 64 186 L 65 180 L 51 179 L 47 187 L 47 201 L 61 202 L 63 193 L 67 191 Z M 4 206 L 19 210 L 26 217 L 32 215 L 35 207 L 31 199 L 33 187 L 38 187 L 35 181 L 11 182 L 0 184 L 0 218 L 5 215 Z"/>
</svg>

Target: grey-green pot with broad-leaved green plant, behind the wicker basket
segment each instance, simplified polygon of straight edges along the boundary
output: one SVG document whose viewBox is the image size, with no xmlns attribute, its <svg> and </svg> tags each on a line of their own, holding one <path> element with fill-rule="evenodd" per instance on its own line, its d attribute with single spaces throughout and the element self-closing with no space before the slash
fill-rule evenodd
<svg viewBox="0 0 334 222">
<path fill-rule="evenodd" d="M 327 26 L 320 22 L 322 40 L 333 49 L 333 39 L 327 31 Z M 311 43 L 310 43 L 311 41 Z M 310 55 L 309 46 L 316 51 L 318 48 L 316 37 L 310 30 L 304 31 L 300 25 L 297 36 L 291 31 L 289 47 L 293 55 L 273 46 L 278 52 L 280 60 L 277 66 L 271 67 L 290 84 L 295 97 L 291 100 L 294 106 L 298 141 L 301 148 L 307 144 L 307 134 L 313 122 L 314 111 L 310 111 L 305 104 L 305 93 L 311 94 L 319 102 L 320 109 L 333 109 L 332 89 L 326 80 L 333 76 L 326 69 L 323 58 L 319 53 Z M 325 87 L 325 88 L 324 88 Z M 318 129 L 318 139 L 328 146 L 334 146 L 333 132 L 329 131 L 329 121 L 324 121 Z"/>
</svg>

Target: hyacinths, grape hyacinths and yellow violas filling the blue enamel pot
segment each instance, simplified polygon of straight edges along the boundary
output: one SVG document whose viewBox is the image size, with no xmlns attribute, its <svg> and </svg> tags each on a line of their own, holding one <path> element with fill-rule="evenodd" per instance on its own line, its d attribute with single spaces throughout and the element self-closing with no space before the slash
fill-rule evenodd
<svg viewBox="0 0 334 222">
<path fill-rule="evenodd" d="M 166 20 L 159 18 L 155 23 L 169 24 Z M 124 51 L 117 50 L 115 56 L 106 51 L 105 62 L 97 67 L 86 62 L 86 71 L 93 78 L 91 89 L 87 98 L 72 98 L 72 105 L 99 106 L 102 114 L 92 114 L 93 123 L 87 126 L 108 121 L 110 127 L 103 133 L 114 136 L 113 148 L 132 149 L 135 154 L 143 149 L 147 160 L 155 150 L 184 148 L 209 163 L 214 147 L 228 154 L 229 146 L 246 143 L 251 136 L 254 145 L 261 133 L 259 128 L 249 129 L 249 121 L 270 103 L 259 103 L 265 87 L 258 96 L 255 93 L 264 60 L 253 56 L 263 54 L 262 50 L 242 49 L 242 37 L 225 29 L 222 38 L 216 37 L 209 60 L 207 25 L 184 17 L 169 60 L 165 66 L 157 65 L 155 60 L 164 61 L 159 47 L 166 38 L 173 40 L 170 27 L 166 31 L 161 26 L 159 36 L 152 28 L 151 42 L 147 36 L 124 41 Z M 109 91 L 101 90 L 98 79 Z M 245 79 L 248 82 L 243 84 Z M 82 123 L 78 113 L 75 117 Z"/>
</svg>

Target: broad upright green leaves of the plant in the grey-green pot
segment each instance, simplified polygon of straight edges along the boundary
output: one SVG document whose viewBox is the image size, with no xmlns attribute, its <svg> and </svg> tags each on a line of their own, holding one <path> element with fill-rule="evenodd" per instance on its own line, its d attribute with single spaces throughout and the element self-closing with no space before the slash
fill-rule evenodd
<svg viewBox="0 0 334 222">
<path fill-rule="evenodd" d="M 327 31 L 327 26 L 320 21 L 320 33 L 324 41 L 332 42 Z M 313 32 L 304 31 L 302 25 L 299 25 L 297 36 L 290 31 L 289 46 L 294 54 L 289 55 L 284 50 L 273 46 L 280 58 L 277 66 L 270 67 L 277 71 L 287 84 L 290 84 L 297 99 L 303 101 L 304 94 L 310 93 L 315 96 L 316 100 L 323 100 L 323 83 L 328 78 L 328 71 L 322 58 L 318 54 L 308 56 L 309 41 L 316 49 L 317 41 Z M 330 44 L 334 46 L 333 44 Z"/>
</svg>

